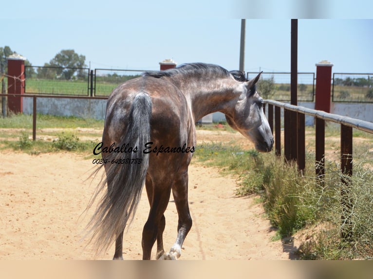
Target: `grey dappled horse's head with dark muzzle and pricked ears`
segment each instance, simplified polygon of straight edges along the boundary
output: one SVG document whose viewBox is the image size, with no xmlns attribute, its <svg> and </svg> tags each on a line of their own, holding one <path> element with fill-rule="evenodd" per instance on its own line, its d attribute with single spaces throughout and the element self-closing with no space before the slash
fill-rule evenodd
<svg viewBox="0 0 373 279">
<path fill-rule="evenodd" d="M 240 84 L 237 102 L 225 118 L 233 129 L 253 141 L 258 151 L 269 152 L 273 147 L 273 135 L 263 112 L 263 99 L 256 89 L 260 76 L 261 73 Z"/>
</svg>

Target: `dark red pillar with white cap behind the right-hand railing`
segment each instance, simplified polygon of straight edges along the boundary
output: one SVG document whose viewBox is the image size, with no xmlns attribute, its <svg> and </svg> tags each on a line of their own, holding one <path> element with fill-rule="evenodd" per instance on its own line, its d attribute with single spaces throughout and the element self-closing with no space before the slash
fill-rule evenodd
<svg viewBox="0 0 373 279">
<path fill-rule="evenodd" d="M 333 64 L 326 60 L 316 64 L 315 109 L 330 112 Z"/>
</svg>

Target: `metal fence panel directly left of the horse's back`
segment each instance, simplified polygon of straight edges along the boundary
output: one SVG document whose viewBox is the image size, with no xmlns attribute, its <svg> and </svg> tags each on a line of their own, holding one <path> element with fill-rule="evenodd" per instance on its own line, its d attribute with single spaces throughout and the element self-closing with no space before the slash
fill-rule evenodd
<svg viewBox="0 0 373 279">
<path fill-rule="evenodd" d="M 118 85 L 141 76 L 145 70 L 94 70 L 94 96 L 108 96 Z"/>
</svg>

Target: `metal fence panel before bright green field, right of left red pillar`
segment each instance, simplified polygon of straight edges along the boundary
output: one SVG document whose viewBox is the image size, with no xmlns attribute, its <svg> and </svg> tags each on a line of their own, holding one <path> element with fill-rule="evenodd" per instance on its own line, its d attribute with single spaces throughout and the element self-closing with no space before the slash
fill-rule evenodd
<svg viewBox="0 0 373 279">
<path fill-rule="evenodd" d="M 88 68 L 25 66 L 25 78 L 25 93 L 28 94 L 89 94 Z"/>
</svg>

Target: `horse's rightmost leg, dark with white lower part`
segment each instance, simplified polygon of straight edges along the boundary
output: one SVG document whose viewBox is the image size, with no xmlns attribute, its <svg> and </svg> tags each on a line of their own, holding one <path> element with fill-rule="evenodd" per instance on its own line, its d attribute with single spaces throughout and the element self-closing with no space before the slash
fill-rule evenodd
<svg viewBox="0 0 373 279">
<path fill-rule="evenodd" d="M 178 221 L 178 234 L 175 244 L 172 245 L 168 254 L 164 256 L 165 260 L 176 260 L 181 255 L 181 247 L 184 243 L 187 233 L 192 227 L 192 218 L 190 217 L 188 206 L 188 174 L 187 172 L 179 176 L 172 186 L 172 194 L 175 200 Z"/>
</svg>

